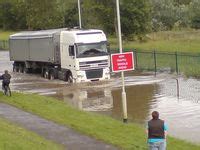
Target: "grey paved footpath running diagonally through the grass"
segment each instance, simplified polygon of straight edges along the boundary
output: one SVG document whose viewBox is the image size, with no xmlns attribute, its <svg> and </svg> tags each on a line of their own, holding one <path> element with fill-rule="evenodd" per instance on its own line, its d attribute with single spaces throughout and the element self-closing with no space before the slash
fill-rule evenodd
<svg viewBox="0 0 200 150">
<path fill-rule="evenodd" d="M 67 150 L 117 150 L 112 145 L 79 134 L 70 128 L 4 103 L 0 103 L 0 117 L 31 130 L 48 140 L 62 144 Z"/>
</svg>

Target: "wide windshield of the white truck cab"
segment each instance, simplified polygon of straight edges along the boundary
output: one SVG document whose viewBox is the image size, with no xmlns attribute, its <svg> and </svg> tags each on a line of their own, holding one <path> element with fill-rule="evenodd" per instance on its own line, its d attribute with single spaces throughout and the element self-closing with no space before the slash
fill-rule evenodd
<svg viewBox="0 0 200 150">
<path fill-rule="evenodd" d="M 77 57 L 104 56 L 107 53 L 107 43 L 79 43 L 77 44 Z"/>
</svg>

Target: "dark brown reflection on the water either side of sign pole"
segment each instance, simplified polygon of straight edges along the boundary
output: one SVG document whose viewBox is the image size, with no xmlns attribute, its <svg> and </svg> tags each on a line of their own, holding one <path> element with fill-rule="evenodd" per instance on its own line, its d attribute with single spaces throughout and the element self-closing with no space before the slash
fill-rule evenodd
<svg viewBox="0 0 200 150">
<path fill-rule="evenodd" d="M 143 123 L 146 120 L 148 110 L 150 109 L 149 103 L 153 99 L 155 90 L 156 86 L 152 84 L 129 86 L 126 88 L 129 120 L 139 123 Z M 112 95 L 114 99 L 112 114 L 115 118 L 122 117 L 121 89 L 113 90 Z"/>
</svg>

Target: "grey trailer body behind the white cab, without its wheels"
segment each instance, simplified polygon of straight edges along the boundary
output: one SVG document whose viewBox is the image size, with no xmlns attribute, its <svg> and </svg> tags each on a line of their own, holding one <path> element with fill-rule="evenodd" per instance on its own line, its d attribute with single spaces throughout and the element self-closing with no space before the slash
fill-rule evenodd
<svg viewBox="0 0 200 150">
<path fill-rule="evenodd" d="M 10 60 L 60 64 L 60 32 L 66 29 L 27 31 L 10 36 Z"/>
</svg>

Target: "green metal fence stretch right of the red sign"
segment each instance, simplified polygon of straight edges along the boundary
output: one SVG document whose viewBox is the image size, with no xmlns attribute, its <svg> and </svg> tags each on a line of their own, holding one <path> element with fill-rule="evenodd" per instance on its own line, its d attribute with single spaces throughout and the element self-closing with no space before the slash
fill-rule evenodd
<svg viewBox="0 0 200 150">
<path fill-rule="evenodd" d="M 200 54 L 145 52 L 134 50 L 135 66 L 138 70 L 176 72 L 186 76 L 200 77 Z"/>
</svg>

